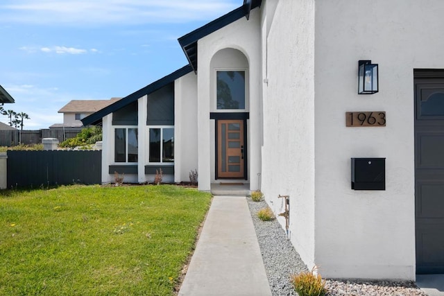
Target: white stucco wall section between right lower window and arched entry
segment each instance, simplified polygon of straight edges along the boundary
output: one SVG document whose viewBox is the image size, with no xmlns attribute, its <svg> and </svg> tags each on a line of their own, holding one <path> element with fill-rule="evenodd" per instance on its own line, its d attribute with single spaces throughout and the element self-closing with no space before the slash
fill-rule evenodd
<svg viewBox="0 0 444 296">
<path fill-rule="evenodd" d="M 190 171 L 198 168 L 196 73 L 174 82 L 174 96 L 174 181 L 189 182 Z"/>
</svg>

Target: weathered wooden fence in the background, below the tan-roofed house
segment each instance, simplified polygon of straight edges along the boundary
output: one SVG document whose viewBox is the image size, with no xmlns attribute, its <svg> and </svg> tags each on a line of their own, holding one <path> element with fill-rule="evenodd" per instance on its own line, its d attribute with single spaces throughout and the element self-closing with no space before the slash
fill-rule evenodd
<svg viewBox="0 0 444 296">
<path fill-rule="evenodd" d="M 76 137 L 81 128 L 46 128 L 44 130 L 0 130 L 0 146 L 15 146 L 42 143 L 44 138 L 56 138 L 59 142 Z"/>
</svg>

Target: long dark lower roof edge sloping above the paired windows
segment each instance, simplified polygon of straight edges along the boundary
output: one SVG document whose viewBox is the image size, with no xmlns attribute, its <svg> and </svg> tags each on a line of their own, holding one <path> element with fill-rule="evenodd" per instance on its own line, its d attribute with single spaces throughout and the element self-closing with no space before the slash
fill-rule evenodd
<svg viewBox="0 0 444 296">
<path fill-rule="evenodd" d="M 125 98 L 122 98 L 121 100 L 117 101 L 116 103 L 112 103 L 108 107 L 104 107 L 102 110 L 99 110 L 89 116 L 86 116 L 84 119 L 82 119 L 83 125 L 97 125 L 101 123 L 101 120 L 104 116 L 107 116 L 108 114 L 117 111 L 126 105 L 133 103 L 134 101 L 137 101 L 139 98 L 142 98 L 142 96 L 152 94 L 157 89 L 160 89 L 164 87 L 165 85 L 168 85 L 171 82 L 174 82 L 174 80 L 186 75 L 187 73 L 190 73 L 193 71 L 191 66 L 188 64 L 185 67 L 182 67 L 173 73 L 165 76 L 164 78 L 160 78 L 159 80 L 151 83 L 150 85 L 146 85 L 146 87 L 139 89 L 136 92 L 133 92 L 133 94 L 130 94 L 129 96 L 126 96 Z"/>
</svg>

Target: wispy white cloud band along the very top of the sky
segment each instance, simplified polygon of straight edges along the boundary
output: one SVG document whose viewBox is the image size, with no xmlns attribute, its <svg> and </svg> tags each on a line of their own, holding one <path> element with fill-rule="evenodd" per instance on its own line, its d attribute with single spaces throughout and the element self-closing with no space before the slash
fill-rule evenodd
<svg viewBox="0 0 444 296">
<path fill-rule="evenodd" d="M 242 0 L 3 0 L 0 22 L 27 24 L 147 24 L 207 20 Z"/>
</svg>

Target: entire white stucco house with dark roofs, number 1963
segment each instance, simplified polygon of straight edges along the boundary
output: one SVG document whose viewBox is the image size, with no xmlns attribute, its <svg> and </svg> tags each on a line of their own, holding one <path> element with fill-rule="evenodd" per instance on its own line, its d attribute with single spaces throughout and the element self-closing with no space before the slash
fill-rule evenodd
<svg viewBox="0 0 444 296">
<path fill-rule="evenodd" d="M 244 180 L 275 214 L 289 195 L 289 239 L 325 277 L 444 273 L 443 11 L 244 1 L 179 39 L 189 65 L 83 119 L 103 123 L 102 182 Z M 357 94 L 359 60 L 379 92 Z"/>
</svg>

